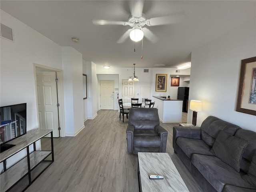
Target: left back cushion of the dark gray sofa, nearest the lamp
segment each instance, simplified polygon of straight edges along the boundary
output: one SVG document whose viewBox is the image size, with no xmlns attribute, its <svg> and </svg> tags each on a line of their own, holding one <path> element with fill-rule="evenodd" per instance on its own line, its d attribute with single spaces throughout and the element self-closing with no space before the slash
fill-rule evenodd
<svg viewBox="0 0 256 192">
<path fill-rule="evenodd" d="M 214 116 L 208 116 L 201 125 L 201 138 L 206 144 L 212 147 L 220 130 L 234 135 L 238 129 L 241 128 L 235 124 L 223 121 Z"/>
</svg>

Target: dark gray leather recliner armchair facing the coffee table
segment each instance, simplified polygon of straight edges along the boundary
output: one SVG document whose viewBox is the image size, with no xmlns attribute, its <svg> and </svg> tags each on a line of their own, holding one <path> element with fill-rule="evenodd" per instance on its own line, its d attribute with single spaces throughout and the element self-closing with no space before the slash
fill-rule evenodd
<svg viewBox="0 0 256 192">
<path fill-rule="evenodd" d="M 128 152 L 166 152 L 168 132 L 160 126 L 157 108 L 130 108 L 126 129 Z"/>
</svg>

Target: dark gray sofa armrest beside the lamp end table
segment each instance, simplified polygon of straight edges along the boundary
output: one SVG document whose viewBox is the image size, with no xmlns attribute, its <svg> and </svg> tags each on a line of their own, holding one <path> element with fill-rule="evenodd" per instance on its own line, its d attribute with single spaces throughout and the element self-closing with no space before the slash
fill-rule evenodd
<svg viewBox="0 0 256 192">
<path fill-rule="evenodd" d="M 185 137 L 191 139 L 201 139 L 201 127 L 183 127 L 183 126 L 174 126 L 173 127 L 173 138 L 172 146 L 176 143 L 178 137 Z"/>
</svg>

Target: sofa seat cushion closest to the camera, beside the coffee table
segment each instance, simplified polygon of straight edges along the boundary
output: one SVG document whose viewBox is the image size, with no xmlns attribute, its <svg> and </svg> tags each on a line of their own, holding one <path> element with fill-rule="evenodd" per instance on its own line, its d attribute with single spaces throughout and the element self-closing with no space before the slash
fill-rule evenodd
<svg viewBox="0 0 256 192">
<path fill-rule="evenodd" d="M 221 192 L 226 184 L 252 188 L 241 178 L 239 172 L 216 156 L 193 154 L 191 162 L 218 192 Z"/>
</svg>

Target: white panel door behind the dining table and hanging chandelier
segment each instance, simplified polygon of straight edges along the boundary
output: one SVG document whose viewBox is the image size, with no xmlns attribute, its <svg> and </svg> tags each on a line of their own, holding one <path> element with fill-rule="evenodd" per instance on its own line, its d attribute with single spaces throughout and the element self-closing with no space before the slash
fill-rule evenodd
<svg viewBox="0 0 256 192">
<path fill-rule="evenodd" d="M 122 91 L 122 99 L 123 103 L 130 103 L 131 98 L 135 96 L 135 86 L 134 81 L 122 80 L 123 91 Z"/>
</svg>

